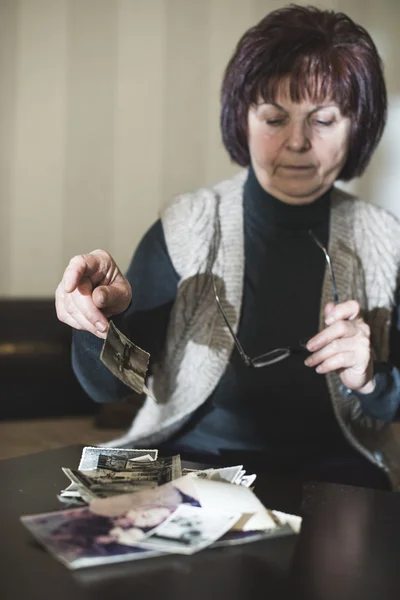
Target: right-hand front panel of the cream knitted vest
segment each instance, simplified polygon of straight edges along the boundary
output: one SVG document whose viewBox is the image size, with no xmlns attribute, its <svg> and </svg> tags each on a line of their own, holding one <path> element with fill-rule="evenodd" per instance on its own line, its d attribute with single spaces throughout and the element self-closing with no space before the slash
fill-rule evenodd
<svg viewBox="0 0 400 600">
<path fill-rule="evenodd" d="M 382 208 L 335 189 L 332 196 L 329 253 L 335 267 L 341 301 L 355 299 L 371 328 L 371 347 L 376 360 L 389 353 L 390 319 L 400 264 L 400 224 Z M 323 307 L 331 300 L 331 284 L 325 275 Z M 327 376 L 335 414 L 348 441 L 366 458 L 383 468 L 395 489 L 400 487 L 400 449 L 391 424 L 366 417 L 358 398 L 343 386 L 336 373 Z"/>
</svg>

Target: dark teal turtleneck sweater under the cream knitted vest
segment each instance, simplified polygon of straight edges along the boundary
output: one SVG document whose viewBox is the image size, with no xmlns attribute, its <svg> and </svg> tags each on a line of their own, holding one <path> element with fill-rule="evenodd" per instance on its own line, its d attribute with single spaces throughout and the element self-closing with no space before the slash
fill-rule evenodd
<svg viewBox="0 0 400 600">
<path fill-rule="evenodd" d="M 318 331 L 326 263 L 308 232 L 311 229 L 328 245 L 329 214 L 329 192 L 308 205 L 288 205 L 268 194 L 249 171 L 238 337 L 250 356 L 295 345 Z M 127 277 L 134 299 L 115 321 L 157 360 L 179 282 L 160 221 L 138 246 Z M 73 364 L 78 378 L 97 401 L 126 396 L 127 388 L 101 365 L 100 345 L 91 334 L 75 332 Z M 296 354 L 249 369 L 234 350 L 214 393 L 171 443 L 205 454 L 249 452 L 280 470 L 300 467 L 321 453 L 343 452 L 347 442 L 333 413 L 325 377 L 306 367 L 305 357 Z M 385 382 L 387 388 L 387 378 Z M 398 403 L 393 393 L 386 400 L 382 393 L 379 398 L 368 396 L 375 416 L 380 418 L 379 410 L 386 418 L 393 416 Z"/>
</svg>

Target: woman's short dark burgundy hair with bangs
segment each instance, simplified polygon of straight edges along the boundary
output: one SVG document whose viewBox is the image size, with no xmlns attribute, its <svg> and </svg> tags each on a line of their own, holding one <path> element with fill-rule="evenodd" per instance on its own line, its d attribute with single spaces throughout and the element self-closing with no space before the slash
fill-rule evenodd
<svg viewBox="0 0 400 600">
<path fill-rule="evenodd" d="M 291 4 L 266 15 L 239 40 L 223 78 L 222 139 L 231 159 L 250 164 L 248 111 L 274 102 L 289 77 L 292 101 L 329 97 L 350 117 L 350 143 L 339 179 L 360 176 L 386 124 L 382 61 L 369 33 L 348 16 Z"/>
</svg>

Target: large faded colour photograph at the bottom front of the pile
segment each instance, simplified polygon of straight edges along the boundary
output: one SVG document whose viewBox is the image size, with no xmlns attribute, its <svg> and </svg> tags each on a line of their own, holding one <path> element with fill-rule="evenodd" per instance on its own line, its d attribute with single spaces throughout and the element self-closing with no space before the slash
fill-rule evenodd
<svg viewBox="0 0 400 600">
<path fill-rule="evenodd" d="M 161 490 L 161 491 L 160 491 Z M 113 505 L 110 514 L 89 507 L 22 517 L 22 523 L 47 550 L 71 569 L 153 556 L 136 543 L 168 518 L 181 503 L 198 501 L 173 486 L 137 492 L 129 509 Z M 114 498 L 113 498 L 114 500 Z M 100 504 L 107 513 L 107 504 Z M 157 553 L 156 553 L 157 554 Z"/>
</svg>

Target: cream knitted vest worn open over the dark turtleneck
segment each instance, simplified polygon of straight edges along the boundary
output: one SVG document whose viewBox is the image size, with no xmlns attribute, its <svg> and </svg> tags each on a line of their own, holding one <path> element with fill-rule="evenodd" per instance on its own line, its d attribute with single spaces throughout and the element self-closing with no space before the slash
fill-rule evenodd
<svg viewBox="0 0 400 600">
<path fill-rule="evenodd" d="M 156 445 L 179 430 L 213 392 L 233 349 L 208 276 L 217 280 L 221 302 L 235 331 L 244 277 L 243 184 L 246 172 L 209 189 L 184 194 L 162 214 L 168 252 L 180 275 L 164 359 L 130 430 L 112 445 Z M 391 214 L 334 189 L 329 254 L 341 301 L 355 299 L 371 327 L 376 360 L 388 358 L 390 318 L 400 264 L 400 224 Z M 332 300 L 328 272 L 321 298 Z M 326 376 L 338 422 L 349 442 L 381 466 L 400 486 L 400 452 L 391 426 L 365 417 L 358 399 L 343 393 L 336 373 Z M 317 426 L 317 424 L 316 424 Z"/>
</svg>

